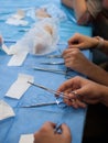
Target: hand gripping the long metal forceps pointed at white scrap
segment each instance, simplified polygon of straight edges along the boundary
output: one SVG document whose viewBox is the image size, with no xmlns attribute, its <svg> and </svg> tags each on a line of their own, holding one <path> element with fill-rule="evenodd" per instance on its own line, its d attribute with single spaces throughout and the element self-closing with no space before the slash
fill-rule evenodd
<svg viewBox="0 0 108 143">
<path fill-rule="evenodd" d="M 64 100 L 66 105 L 74 108 L 85 108 L 86 103 L 105 103 L 106 87 L 83 77 L 74 77 L 63 82 L 57 91 L 65 92 L 72 100 Z M 108 92 L 108 88 L 106 90 Z M 106 94 L 107 95 L 107 94 Z M 107 99 L 108 96 L 106 96 Z M 108 99 L 107 99 L 108 105 Z"/>
</svg>

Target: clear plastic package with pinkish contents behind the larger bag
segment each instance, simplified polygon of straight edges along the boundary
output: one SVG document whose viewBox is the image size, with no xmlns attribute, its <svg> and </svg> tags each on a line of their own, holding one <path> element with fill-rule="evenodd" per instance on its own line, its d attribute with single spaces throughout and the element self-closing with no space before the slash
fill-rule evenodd
<svg viewBox="0 0 108 143">
<path fill-rule="evenodd" d="M 31 8 L 26 12 L 26 15 L 31 16 L 33 20 L 53 18 L 58 21 L 64 21 L 67 19 L 65 12 L 54 3 L 44 4 L 44 6 L 41 6 L 40 8 Z"/>
</svg>

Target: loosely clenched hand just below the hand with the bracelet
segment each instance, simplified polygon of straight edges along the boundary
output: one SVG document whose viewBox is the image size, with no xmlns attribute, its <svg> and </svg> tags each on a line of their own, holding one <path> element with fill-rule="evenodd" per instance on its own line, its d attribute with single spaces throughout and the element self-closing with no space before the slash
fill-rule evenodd
<svg viewBox="0 0 108 143">
<path fill-rule="evenodd" d="M 89 69 L 93 69 L 93 63 L 89 62 L 78 48 L 67 48 L 63 52 L 65 66 L 69 67 L 86 76 L 89 75 Z"/>
</svg>

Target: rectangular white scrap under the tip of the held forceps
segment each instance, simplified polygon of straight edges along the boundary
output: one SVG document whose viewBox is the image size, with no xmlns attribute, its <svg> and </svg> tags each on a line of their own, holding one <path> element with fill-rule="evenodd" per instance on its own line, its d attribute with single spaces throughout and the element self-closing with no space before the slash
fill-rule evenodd
<svg viewBox="0 0 108 143">
<path fill-rule="evenodd" d="M 10 98 L 20 99 L 31 86 L 28 81 L 33 82 L 34 77 L 30 75 L 19 74 L 18 79 L 10 87 L 6 96 Z"/>
</svg>

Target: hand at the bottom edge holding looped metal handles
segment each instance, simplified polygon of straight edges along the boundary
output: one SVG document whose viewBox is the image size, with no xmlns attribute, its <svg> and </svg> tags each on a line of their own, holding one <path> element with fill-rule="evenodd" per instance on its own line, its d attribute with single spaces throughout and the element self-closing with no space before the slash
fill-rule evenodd
<svg viewBox="0 0 108 143">
<path fill-rule="evenodd" d="M 34 143 L 71 143 L 71 131 L 66 124 L 62 124 L 62 134 L 54 133 L 56 124 L 46 122 L 34 134 Z"/>
</svg>

